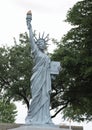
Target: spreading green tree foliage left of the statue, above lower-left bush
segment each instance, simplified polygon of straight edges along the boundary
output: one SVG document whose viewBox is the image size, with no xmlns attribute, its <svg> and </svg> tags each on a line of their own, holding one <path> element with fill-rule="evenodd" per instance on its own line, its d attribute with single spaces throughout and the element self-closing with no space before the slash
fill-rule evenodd
<svg viewBox="0 0 92 130">
<path fill-rule="evenodd" d="M 32 57 L 30 55 L 27 33 L 20 34 L 19 44 L 11 48 L 0 48 L 0 89 L 14 101 L 21 100 L 29 107 L 30 77 L 32 74 Z M 2 91 L 1 90 L 1 91 Z"/>
</svg>

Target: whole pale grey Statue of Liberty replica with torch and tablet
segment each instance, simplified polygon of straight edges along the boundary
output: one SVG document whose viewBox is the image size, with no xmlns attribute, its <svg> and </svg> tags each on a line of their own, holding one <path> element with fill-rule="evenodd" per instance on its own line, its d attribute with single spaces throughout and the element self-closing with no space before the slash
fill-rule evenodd
<svg viewBox="0 0 92 130">
<path fill-rule="evenodd" d="M 27 13 L 27 27 L 29 30 L 31 52 L 34 60 L 33 75 L 31 77 L 32 101 L 29 107 L 26 124 L 30 125 L 54 125 L 50 116 L 50 93 L 51 93 L 51 73 L 58 74 L 60 63 L 51 62 L 44 53 L 49 40 L 48 35 L 39 36 L 36 40 L 32 33 L 32 13 Z M 52 66 L 52 67 L 51 67 Z M 56 72 L 54 67 L 56 67 Z M 53 71 L 54 70 L 54 71 Z"/>
</svg>

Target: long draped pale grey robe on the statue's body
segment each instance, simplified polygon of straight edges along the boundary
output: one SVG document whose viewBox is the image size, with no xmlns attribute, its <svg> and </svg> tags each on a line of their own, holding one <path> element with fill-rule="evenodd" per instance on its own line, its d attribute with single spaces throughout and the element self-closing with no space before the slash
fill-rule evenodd
<svg viewBox="0 0 92 130">
<path fill-rule="evenodd" d="M 27 124 L 53 124 L 50 116 L 50 59 L 37 47 L 32 50 L 34 56 L 33 75 L 31 77 L 32 101 L 26 117 Z"/>
</svg>

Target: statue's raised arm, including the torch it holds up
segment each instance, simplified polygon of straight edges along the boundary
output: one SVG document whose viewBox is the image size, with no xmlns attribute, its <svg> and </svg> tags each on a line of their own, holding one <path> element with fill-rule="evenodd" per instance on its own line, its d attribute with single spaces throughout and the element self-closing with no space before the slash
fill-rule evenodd
<svg viewBox="0 0 92 130">
<path fill-rule="evenodd" d="M 28 11 L 27 17 L 26 17 L 26 22 L 27 22 L 27 27 L 29 30 L 31 49 L 32 49 L 32 51 L 34 51 L 34 50 L 36 50 L 37 46 L 35 44 L 35 40 L 34 40 L 34 36 L 33 36 L 33 32 L 32 32 L 31 20 L 32 20 L 32 13 L 31 13 L 31 11 Z"/>
</svg>

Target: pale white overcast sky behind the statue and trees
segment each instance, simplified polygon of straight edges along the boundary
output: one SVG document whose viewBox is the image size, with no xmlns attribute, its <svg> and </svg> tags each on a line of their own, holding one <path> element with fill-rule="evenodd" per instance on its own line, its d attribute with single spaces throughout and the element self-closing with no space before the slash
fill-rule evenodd
<svg viewBox="0 0 92 130">
<path fill-rule="evenodd" d="M 27 32 L 26 13 L 32 10 L 32 26 L 39 32 L 50 34 L 58 40 L 71 28 L 65 23 L 67 11 L 80 0 L 0 0 L 0 46 L 13 45 L 13 37 L 18 40 L 20 33 Z M 26 108 L 18 104 L 17 122 L 23 123 Z M 56 122 L 61 122 L 60 116 Z M 84 125 L 80 124 L 80 125 Z M 85 125 L 84 130 L 91 130 L 92 124 Z"/>
</svg>

